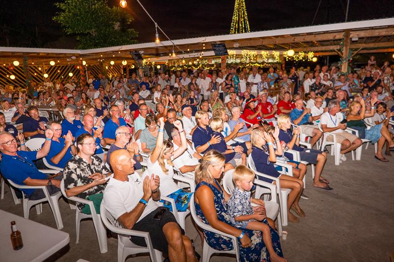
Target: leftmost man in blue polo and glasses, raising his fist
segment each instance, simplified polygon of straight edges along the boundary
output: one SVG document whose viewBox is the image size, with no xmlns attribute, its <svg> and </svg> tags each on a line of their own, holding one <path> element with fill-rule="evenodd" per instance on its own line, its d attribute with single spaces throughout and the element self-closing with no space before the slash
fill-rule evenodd
<svg viewBox="0 0 394 262">
<path fill-rule="evenodd" d="M 53 178 L 38 171 L 33 160 L 44 157 L 49 152 L 52 130 L 45 130 L 45 143 L 38 151 L 18 151 L 16 139 L 8 132 L 0 134 L 1 174 L 19 185 L 47 186 L 50 195 L 60 191 L 62 176 Z M 38 200 L 45 197 L 42 189 L 21 189 L 30 200 Z"/>
</svg>

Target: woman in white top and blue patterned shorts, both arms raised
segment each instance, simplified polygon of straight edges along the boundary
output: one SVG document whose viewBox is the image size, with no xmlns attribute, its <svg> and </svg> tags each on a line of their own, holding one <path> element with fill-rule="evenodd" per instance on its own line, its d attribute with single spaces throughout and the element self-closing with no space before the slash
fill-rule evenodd
<svg viewBox="0 0 394 262">
<path fill-rule="evenodd" d="M 181 137 L 181 146 L 174 151 L 174 146 L 171 141 L 164 140 L 164 118 L 159 119 L 160 129 L 156 141 L 156 147 L 147 160 L 147 174 L 155 174 L 160 177 L 160 193 L 175 200 L 176 209 L 178 211 L 186 211 L 193 193 L 185 192 L 177 186 L 172 179 L 174 176 L 172 159 L 180 156 L 187 149 L 187 142 L 185 132 L 182 128 L 182 123 L 179 120 L 174 121 L 174 126 L 179 130 Z M 171 211 L 171 204 L 166 201 L 161 201 L 165 207 Z"/>
</svg>

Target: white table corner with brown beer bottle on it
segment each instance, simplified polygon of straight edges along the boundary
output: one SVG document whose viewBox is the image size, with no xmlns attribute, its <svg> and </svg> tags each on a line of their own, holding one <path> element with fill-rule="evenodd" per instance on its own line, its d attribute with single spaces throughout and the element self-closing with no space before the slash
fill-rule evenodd
<svg viewBox="0 0 394 262">
<path fill-rule="evenodd" d="M 11 221 L 22 234 L 23 248 L 13 250 L 10 240 Z M 70 241 L 68 233 L 0 210 L 0 261 L 43 261 Z"/>
</svg>

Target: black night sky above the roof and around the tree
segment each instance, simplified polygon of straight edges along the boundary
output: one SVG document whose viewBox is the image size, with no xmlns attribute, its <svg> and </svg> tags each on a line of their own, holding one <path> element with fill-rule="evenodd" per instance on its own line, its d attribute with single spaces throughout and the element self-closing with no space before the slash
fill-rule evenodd
<svg viewBox="0 0 394 262">
<path fill-rule="evenodd" d="M 75 48 L 73 36 L 65 35 L 52 21 L 59 0 L 2 1 L 0 46 Z M 230 33 L 235 0 L 140 0 L 172 39 Z M 153 42 L 155 26 L 135 0 L 127 0 L 134 17 L 132 28 L 138 42 Z M 108 0 L 119 5 L 119 0 Z M 319 0 L 245 0 L 252 31 L 309 26 Z M 346 0 L 322 0 L 314 25 L 345 21 Z M 393 0 L 350 0 L 348 21 L 392 17 Z M 164 39 L 163 34 L 160 34 Z"/>
</svg>

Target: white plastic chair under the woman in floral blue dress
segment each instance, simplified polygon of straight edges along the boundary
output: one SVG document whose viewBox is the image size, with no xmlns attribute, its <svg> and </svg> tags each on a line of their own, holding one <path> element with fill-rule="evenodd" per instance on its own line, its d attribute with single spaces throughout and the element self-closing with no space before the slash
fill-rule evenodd
<svg viewBox="0 0 394 262">
<path fill-rule="evenodd" d="M 216 234 L 220 234 L 220 235 L 230 238 L 232 241 L 232 246 L 234 247 L 232 250 L 219 251 L 219 250 L 216 250 L 216 249 L 213 249 L 212 247 L 210 247 L 204 238 L 201 261 L 202 262 L 209 262 L 209 259 L 213 254 L 219 253 L 219 254 L 235 254 L 236 260 L 237 260 L 237 262 L 239 262 L 239 247 L 238 247 L 237 238 L 233 235 L 223 233 L 219 230 L 216 230 L 216 229 L 212 228 L 211 226 L 200 221 L 197 217 L 196 207 L 194 206 L 194 197 L 190 201 L 190 213 L 192 214 L 193 220 L 196 222 L 198 227 L 200 227 L 203 230 L 206 230 L 206 231 L 209 231 L 212 233 L 216 233 Z"/>
</svg>

